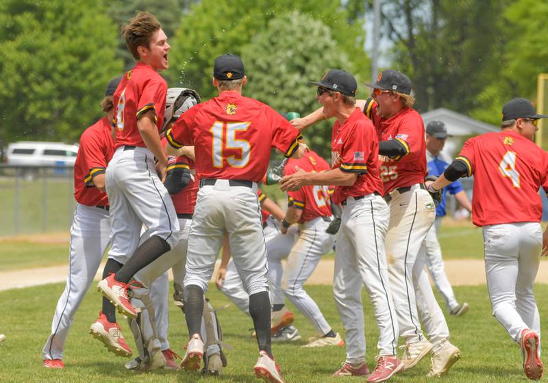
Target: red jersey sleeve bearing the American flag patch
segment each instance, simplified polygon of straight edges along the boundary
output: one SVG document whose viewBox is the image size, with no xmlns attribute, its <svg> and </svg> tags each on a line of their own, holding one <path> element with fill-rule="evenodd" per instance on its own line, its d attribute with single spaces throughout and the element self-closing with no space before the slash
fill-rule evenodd
<svg viewBox="0 0 548 383">
<path fill-rule="evenodd" d="M 372 132 L 373 129 L 368 129 L 367 124 L 371 122 L 362 120 L 356 123 L 343 140 L 338 166 L 343 172 L 367 172 L 367 159 L 371 156 L 371 145 L 374 141 L 373 137 L 368 137 L 368 131 Z"/>
</svg>

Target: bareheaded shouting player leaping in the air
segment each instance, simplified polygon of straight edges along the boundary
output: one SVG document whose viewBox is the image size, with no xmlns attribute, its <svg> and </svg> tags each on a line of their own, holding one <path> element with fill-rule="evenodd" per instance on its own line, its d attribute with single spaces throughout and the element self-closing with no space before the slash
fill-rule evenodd
<svg viewBox="0 0 548 383">
<path fill-rule="evenodd" d="M 112 246 L 105 279 L 97 289 L 121 313 L 134 318 L 127 282 L 178 243 L 179 222 L 162 184 L 167 157 L 159 135 L 167 85 L 158 71 L 168 67 L 170 47 L 160 23 L 148 12 L 138 12 L 124 26 L 123 35 L 137 63 L 114 94 L 116 151 L 106 171 Z M 150 237 L 139 245 L 143 224 Z M 109 321 L 111 315 L 107 314 Z"/>
</svg>

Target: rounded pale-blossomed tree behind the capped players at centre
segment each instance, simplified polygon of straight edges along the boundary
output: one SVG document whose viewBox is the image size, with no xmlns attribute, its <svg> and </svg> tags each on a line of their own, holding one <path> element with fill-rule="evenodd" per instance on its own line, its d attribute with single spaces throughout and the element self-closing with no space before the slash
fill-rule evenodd
<svg viewBox="0 0 548 383">
<path fill-rule="evenodd" d="M 348 55 L 340 49 L 329 27 L 297 12 L 272 18 L 242 50 L 242 60 L 248 79 L 244 94 L 281 113 L 308 114 L 320 107 L 316 87 L 308 81 L 319 81 L 327 70 L 343 68 L 353 72 Z M 306 142 L 326 158 L 331 152 L 331 125 L 323 122 L 306 131 Z"/>
</svg>

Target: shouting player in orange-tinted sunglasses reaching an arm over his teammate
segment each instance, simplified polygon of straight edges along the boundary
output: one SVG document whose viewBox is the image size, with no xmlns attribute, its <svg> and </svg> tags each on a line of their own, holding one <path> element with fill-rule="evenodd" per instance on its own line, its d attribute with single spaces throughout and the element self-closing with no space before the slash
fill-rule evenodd
<svg viewBox="0 0 548 383">
<path fill-rule="evenodd" d="M 375 83 L 372 98 L 356 105 L 371 118 L 379 140 L 382 163 L 382 194 L 390 207 L 386 233 L 386 256 L 390 289 L 406 341 L 402 358 L 406 369 L 433 352 L 429 376 L 447 373 L 460 358 L 460 350 L 449 343 L 449 328 L 424 270 L 421 243 L 436 217 L 432 197 L 423 184 L 427 174 L 423 120 L 412 109 L 411 81 L 397 70 L 384 70 Z M 325 118 L 318 109 L 292 121 L 299 129 Z M 419 315 L 432 343 L 421 330 Z"/>
</svg>

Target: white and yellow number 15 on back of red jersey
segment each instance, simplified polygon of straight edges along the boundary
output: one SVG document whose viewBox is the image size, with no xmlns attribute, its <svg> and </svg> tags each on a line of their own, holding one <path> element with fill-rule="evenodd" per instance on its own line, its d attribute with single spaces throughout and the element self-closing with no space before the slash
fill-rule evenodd
<svg viewBox="0 0 548 383">
<path fill-rule="evenodd" d="M 243 168 L 249 163 L 251 145 L 247 140 L 236 138 L 237 132 L 247 131 L 251 122 L 221 122 L 216 121 L 210 128 L 212 133 L 212 159 L 214 168 L 223 168 L 226 160 L 232 168 Z M 240 150 L 240 155 L 225 157 L 225 150 Z"/>
</svg>

